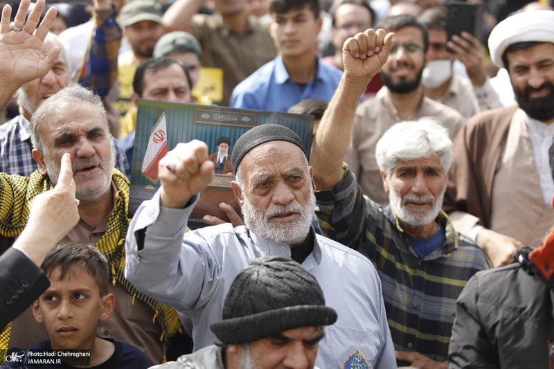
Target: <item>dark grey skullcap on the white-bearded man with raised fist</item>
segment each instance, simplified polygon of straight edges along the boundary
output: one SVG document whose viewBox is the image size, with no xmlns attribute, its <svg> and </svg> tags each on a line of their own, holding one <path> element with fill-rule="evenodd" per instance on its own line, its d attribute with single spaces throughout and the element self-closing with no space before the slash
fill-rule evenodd
<svg viewBox="0 0 554 369">
<path fill-rule="evenodd" d="M 273 123 L 258 125 L 240 136 L 233 146 L 233 157 L 231 158 L 233 172 L 237 172 L 244 155 L 254 147 L 269 141 L 289 141 L 300 147 L 304 154 L 306 153 L 302 140 L 292 129 Z"/>
</svg>

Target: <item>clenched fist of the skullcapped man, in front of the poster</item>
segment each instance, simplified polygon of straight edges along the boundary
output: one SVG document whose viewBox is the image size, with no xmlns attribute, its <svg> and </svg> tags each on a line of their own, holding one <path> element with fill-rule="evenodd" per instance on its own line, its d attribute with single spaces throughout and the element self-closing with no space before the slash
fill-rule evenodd
<svg viewBox="0 0 554 369">
<path fill-rule="evenodd" d="M 190 197 L 208 186 L 214 173 L 215 164 L 208 160 L 206 143 L 179 143 L 158 165 L 161 206 L 184 208 Z"/>
</svg>

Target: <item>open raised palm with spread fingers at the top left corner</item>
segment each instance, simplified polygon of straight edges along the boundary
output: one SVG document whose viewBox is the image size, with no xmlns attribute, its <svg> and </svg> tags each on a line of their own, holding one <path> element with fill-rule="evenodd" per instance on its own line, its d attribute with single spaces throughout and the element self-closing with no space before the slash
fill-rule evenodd
<svg viewBox="0 0 554 369">
<path fill-rule="evenodd" d="M 10 30 L 11 6 L 6 5 L 2 9 L 0 19 L 0 109 L 3 109 L 22 84 L 46 75 L 60 55 L 60 46 L 54 46 L 46 53 L 42 51 L 44 37 L 56 17 L 56 8 L 48 9 L 39 24 L 40 15 L 46 2 L 37 0 L 28 19 L 25 20 L 29 5 L 30 0 L 21 0 L 13 21 L 14 30 Z M 22 29 L 16 30 L 17 28 Z"/>
</svg>

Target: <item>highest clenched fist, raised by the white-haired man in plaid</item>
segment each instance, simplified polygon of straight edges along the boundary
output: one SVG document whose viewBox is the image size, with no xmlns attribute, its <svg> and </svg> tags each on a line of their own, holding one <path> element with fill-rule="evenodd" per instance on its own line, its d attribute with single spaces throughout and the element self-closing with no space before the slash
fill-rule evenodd
<svg viewBox="0 0 554 369">
<path fill-rule="evenodd" d="M 364 80 L 373 78 L 391 52 L 393 36 L 383 29 L 368 29 L 347 39 L 342 48 L 345 75 Z"/>
</svg>

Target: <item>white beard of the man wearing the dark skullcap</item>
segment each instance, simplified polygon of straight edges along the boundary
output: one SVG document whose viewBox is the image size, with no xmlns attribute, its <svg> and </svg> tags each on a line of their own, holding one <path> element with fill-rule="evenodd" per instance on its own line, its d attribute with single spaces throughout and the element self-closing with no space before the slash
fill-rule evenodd
<svg viewBox="0 0 554 369">
<path fill-rule="evenodd" d="M 242 214 L 244 223 L 262 240 L 278 244 L 299 244 L 310 232 L 315 208 L 316 197 L 313 191 L 310 191 L 310 199 L 305 206 L 296 201 L 286 206 L 272 204 L 267 208 L 265 214 L 259 208 L 252 206 L 247 196 L 244 195 Z M 299 213 L 300 217 L 287 223 L 271 223 L 269 221 L 274 215 L 287 212 Z"/>
</svg>

